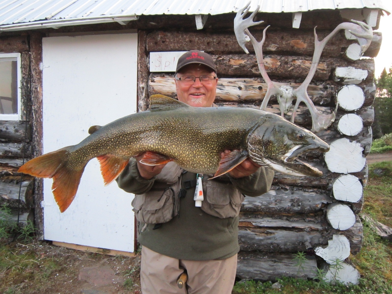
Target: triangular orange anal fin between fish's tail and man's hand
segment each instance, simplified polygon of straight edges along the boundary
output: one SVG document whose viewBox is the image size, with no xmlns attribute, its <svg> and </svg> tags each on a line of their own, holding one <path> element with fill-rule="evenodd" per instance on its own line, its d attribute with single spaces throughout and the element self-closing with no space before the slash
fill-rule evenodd
<svg viewBox="0 0 392 294">
<path fill-rule="evenodd" d="M 101 165 L 101 174 L 103 176 L 105 186 L 116 180 L 118 175 L 129 162 L 129 158 L 124 160 L 122 157 L 117 157 L 111 154 L 97 156 L 97 159 Z"/>
</svg>

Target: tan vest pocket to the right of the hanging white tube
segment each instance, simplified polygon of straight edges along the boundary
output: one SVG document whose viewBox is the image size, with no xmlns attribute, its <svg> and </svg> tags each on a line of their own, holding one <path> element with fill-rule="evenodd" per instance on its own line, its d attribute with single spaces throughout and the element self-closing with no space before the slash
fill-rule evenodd
<svg viewBox="0 0 392 294">
<path fill-rule="evenodd" d="M 232 183 L 205 181 L 203 183 L 204 201 L 201 210 L 218 218 L 234 218 L 240 214 L 244 196 Z"/>
</svg>

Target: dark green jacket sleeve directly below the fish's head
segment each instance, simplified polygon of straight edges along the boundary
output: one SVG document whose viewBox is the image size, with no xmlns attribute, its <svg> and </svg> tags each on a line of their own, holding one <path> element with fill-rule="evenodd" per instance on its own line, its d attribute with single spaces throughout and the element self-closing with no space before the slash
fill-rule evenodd
<svg viewBox="0 0 392 294">
<path fill-rule="evenodd" d="M 275 172 L 272 169 L 260 167 L 255 173 L 243 178 L 233 178 L 230 181 L 241 193 L 246 196 L 260 196 L 269 191 Z"/>
</svg>

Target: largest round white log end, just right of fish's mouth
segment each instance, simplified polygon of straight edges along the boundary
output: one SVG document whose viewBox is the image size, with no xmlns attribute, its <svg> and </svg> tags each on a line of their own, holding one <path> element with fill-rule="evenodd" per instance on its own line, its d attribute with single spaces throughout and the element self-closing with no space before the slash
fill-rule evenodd
<svg viewBox="0 0 392 294">
<path fill-rule="evenodd" d="M 331 172 L 348 174 L 359 172 L 365 166 L 366 158 L 362 156 L 363 148 L 360 143 L 341 138 L 330 143 L 329 147 L 324 159 Z"/>
</svg>

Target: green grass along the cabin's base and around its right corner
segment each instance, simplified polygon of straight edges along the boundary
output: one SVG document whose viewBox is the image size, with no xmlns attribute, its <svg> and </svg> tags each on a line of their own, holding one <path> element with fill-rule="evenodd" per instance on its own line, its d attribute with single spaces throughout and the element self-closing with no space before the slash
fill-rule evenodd
<svg viewBox="0 0 392 294">
<path fill-rule="evenodd" d="M 374 170 L 381 176 L 374 173 Z M 381 171 L 381 172 L 380 172 Z M 363 211 L 385 225 L 392 227 L 392 162 L 369 165 L 369 179 L 364 189 Z M 377 236 L 366 221 L 363 223 L 361 251 L 350 260 L 363 278 L 358 285 L 323 283 L 318 279 L 278 279 L 280 289 L 272 289 L 271 282 L 241 281 L 236 283 L 233 294 L 392 294 L 392 243 Z M 301 257 L 295 256 L 298 265 Z"/>
</svg>

